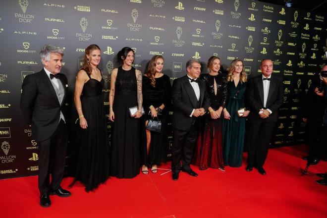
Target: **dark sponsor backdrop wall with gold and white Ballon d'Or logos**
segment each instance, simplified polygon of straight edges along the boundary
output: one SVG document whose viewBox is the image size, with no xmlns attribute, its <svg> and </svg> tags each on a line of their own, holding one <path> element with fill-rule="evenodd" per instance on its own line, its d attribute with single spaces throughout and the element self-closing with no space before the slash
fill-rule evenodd
<svg viewBox="0 0 327 218">
<path fill-rule="evenodd" d="M 205 63 L 217 55 L 226 69 L 239 57 L 249 76 L 259 74 L 261 59 L 272 58 L 273 73 L 283 76 L 285 85 L 272 142 L 280 146 L 303 142 L 299 105 L 326 63 L 326 26 L 326 15 L 254 0 L 1 1 L 0 178 L 37 174 L 38 145 L 19 98 L 24 77 L 42 68 L 39 51 L 44 44 L 65 49 L 62 73 L 71 96 L 84 49 L 101 47 L 105 106 L 113 57 L 124 46 L 136 52 L 135 67 L 142 72 L 153 55 L 162 54 L 163 72 L 171 82 L 185 74 L 189 58 Z M 72 101 L 71 106 L 75 119 Z M 171 146 L 171 132 L 167 137 Z"/>
</svg>

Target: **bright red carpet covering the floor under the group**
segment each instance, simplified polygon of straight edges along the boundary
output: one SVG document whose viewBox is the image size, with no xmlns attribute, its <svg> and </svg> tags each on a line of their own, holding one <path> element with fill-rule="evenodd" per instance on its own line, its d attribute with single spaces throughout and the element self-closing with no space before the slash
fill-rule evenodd
<svg viewBox="0 0 327 218">
<path fill-rule="evenodd" d="M 161 175 L 164 170 L 133 179 L 110 178 L 92 193 L 77 184 L 69 189 L 69 198 L 51 196 L 50 208 L 39 206 L 37 176 L 4 179 L 0 217 L 326 218 L 327 186 L 316 184 L 316 175 L 300 176 L 305 154 L 305 146 L 271 149 L 265 176 L 256 169 L 246 172 L 243 163 L 240 168 L 226 167 L 226 172 L 193 166 L 199 177 L 181 172 L 178 181 L 171 179 L 171 173 Z M 326 172 L 327 162 L 310 166 L 309 171 Z M 62 187 L 71 180 L 64 179 Z"/>
</svg>

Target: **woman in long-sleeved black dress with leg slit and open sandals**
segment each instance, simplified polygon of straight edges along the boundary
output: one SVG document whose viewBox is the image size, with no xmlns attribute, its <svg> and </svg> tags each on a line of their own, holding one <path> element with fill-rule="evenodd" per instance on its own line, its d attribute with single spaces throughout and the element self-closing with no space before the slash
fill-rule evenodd
<svg viewBox="0 0 327 218">
<path fill-rule="evenodd" d="M 146 147 L 144 148 L 143 174 L 148 174 L 148 167 L 151 171 L 158 171 L 157 165 L 165 162 L 167 157 L 167 134 L 166 120 L 170 105 L 170 78 L 162 73 L 163 56 L 155 55 L 151 58 L 147 73 L 143 76 L 142 92 L 143 105 L 145 110 L 145 126 L 148 119 L 158 117 L 162 121 L 161 132 L 146 130 Z"/>
</svg>

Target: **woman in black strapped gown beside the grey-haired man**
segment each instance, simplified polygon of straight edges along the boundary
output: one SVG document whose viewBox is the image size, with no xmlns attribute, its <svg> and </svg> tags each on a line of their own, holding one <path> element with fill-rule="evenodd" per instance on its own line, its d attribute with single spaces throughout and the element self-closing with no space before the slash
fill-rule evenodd
<svg viewBox="0 0 327 218">
<path fill-rule="evenodd" d="M 74 102 L 79 116 L 74 181 L 85 185 L 86 191 L 96 189 L 109 176 L 109 144 L 102 89 L 104 80 L 98 65 L 101 50 L 97 45 L 85 49 L 84 64 L 77 73 Z"/>
</svg>

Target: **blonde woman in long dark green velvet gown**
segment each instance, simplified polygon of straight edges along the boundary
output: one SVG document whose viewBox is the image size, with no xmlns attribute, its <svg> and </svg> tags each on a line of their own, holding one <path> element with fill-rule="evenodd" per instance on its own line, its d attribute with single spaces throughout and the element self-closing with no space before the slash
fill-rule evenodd
<svg viewBox="0 0 327 218">
<path fill-rule="evenodd" d="M 237 110 L 245 108 L 245 89 L 247 75 L 241 59 L 234 59 L 227 75 L 227 102 L 223 109 L 223 160 L 225 165 L 239 167 L 242 165 L 242 154 L 245 136 L 245 117 L 250 111 L 237 114 Z"/>
</svg>

